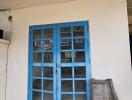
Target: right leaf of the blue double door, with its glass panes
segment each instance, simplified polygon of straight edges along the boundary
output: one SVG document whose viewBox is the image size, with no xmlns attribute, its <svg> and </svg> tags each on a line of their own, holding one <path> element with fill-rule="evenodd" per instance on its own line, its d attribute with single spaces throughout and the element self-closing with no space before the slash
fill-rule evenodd
<svg viewBox="0 0 132 100">
<path fill-rule="evenodd" d="M 59 77 L 57 100 L 90 100 L 90 87 L 86 85 L 89 77 L 86 76 L 89 56 L 86 45 L 88 37 L 87 25 L 80 23 L 60 24 L 58 35 L 58 65 Z M 64 65 L 64 66 L 63 66 Z"/>
</svg>

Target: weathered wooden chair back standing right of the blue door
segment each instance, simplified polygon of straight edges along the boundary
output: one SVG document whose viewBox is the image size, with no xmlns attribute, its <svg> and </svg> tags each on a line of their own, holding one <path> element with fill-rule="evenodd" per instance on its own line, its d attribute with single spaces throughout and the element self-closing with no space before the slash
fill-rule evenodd
<svg viewBox="0 0 132 100">
<path fill-rule="evenodd" d="M 112 79 L 91 80 L 92 100 L 118 100 Z"/>
</svg>

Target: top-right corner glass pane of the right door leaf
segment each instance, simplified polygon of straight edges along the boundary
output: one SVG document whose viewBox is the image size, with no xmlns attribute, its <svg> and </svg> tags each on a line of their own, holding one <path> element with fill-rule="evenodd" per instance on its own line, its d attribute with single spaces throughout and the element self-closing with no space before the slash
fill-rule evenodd
<svg viewBox="0 0 132 100">
<path fill-rule="evenodd" d="M 73 27 L 73 36 L 74 37 L 82 37 L 84 36 L 84 27 L 83 26 L 75 26 Z"/>
</svg>

